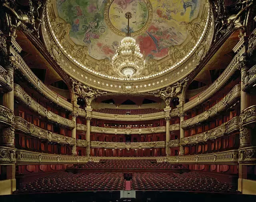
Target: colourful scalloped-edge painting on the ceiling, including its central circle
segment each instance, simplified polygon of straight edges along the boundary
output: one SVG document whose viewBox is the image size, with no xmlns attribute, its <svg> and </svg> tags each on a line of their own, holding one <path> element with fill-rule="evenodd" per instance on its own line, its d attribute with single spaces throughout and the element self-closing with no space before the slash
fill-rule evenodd
<svg viewBox="0 0 256 202">
<path fill-rule="evenodd" d="M 162 59 L 170 46 L 182 44 L 186 25 L 197 18 L 200 0 L 56 0 L 58 16 L 71 25 L 70 39 L 86 45 L 95 59 L 110 59 L 127 32 L 146 58 Z"/>
</svg>

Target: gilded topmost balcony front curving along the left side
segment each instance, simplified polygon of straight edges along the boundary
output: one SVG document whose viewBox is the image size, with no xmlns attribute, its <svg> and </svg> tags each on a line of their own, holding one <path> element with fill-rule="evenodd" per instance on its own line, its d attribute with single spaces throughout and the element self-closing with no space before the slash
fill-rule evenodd
<svg viewBox="0 0 256 202">
<path fill-rule="evenodd" d="M 34 73 L 31 71 L 28 65 L 26 65 L 22 57 L 18 54 L 16 55 L 15 65 L 16 71 L 20 71 L 20 73 L 25 76 L 27 81 L 31 83 L 34 86 L 34 88 L 39 93 L 41 93 L 45 98 L 54 102 L 56 105 L 72 112 L 73 105 L 70 102 L 64 100 L 62 97 L 58 96 L 58 94 L 50 90 L 46 85 L 44 85 L 44 83 L 40 81 L 36 77 L 36 75 L 34 75 Z"/>
</svg>

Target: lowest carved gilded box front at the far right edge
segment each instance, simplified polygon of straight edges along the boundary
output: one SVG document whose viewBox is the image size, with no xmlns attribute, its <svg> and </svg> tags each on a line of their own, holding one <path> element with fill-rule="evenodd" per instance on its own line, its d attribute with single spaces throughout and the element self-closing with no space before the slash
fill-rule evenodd
<svg viewBox="0 0 256 202">
<path fill-rule="evenodd" d="M 254 163 L 256 162 L 256 147 L 245 147 L 239 149 L 238 163 Z"/>
</svg>

